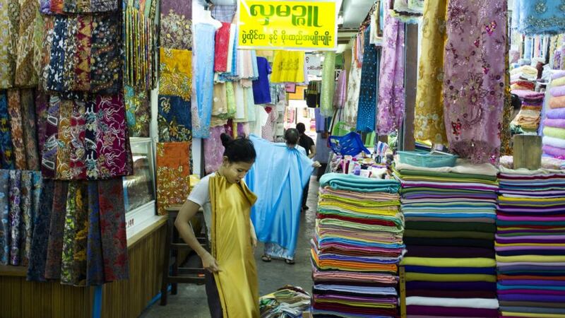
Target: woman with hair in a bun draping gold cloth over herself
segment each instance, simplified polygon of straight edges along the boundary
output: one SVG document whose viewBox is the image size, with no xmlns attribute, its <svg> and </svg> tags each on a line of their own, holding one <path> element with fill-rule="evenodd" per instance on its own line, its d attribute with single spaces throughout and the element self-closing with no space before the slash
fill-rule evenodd
<svg viewBox="0 0 565 318">
<path fill-rule="evenodd" d="M 204 177 L 182 206 L 174 225 L 202 259 L 210 315 L 217 317 L 259 317 L 259 297 L 253 249 L 257 239 L 250 220 L 257 197 L 244 177 L 255 162 L 256 152 L 249 139 L 221 136 L 225 147 L 222 166 Z M 189 227 L 189 220 L 203 208 L 211 254 Z"/>
</svg>

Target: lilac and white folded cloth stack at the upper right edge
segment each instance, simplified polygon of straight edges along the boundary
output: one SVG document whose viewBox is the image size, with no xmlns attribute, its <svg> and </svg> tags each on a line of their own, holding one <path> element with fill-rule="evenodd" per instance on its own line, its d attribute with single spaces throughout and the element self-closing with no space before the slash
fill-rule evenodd
<svg viewBox="0 0 565 318">
<path fill-rule="evenodd" d="M 552 76 L 551 98 L 543 121 L 543 152 L 554 158 L 565 158 L 565 71 Z"/>
</svg>

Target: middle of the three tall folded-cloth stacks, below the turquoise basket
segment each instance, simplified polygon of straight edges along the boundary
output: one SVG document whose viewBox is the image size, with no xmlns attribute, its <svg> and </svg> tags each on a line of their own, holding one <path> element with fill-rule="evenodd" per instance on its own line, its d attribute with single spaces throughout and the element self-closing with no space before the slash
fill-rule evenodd
<svg viewBox="0 0 565 318">
<path fill-rule="evenodd" d="M 396 163 L 402 184 L 408 317 L 498 317 L 493 165 Z"/>
</svg>

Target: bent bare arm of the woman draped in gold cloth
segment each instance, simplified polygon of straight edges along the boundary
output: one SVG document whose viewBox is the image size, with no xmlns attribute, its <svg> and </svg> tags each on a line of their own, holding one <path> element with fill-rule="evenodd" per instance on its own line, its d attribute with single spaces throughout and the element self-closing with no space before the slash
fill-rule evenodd
<svg viewBox="0 0 565 318">
<path fill-rule="evenodd" d="M 184 242 L 186 242 L 191 249 L 198 254 L 198 256 L 202 259 L 202 265 L 205 269 L 210 271 L 210 273 L 215 273 L 220 271 L 220 266 L 218 266 L 218 262 L 212 257 L 204 247 L 198 242 L 196 239 L 196 235 L 192 232 L 192 229 L 189 226 L 189 221 L 193 218 L 200 206 L 195 204 L 193 201 L 187 200 L 183 205 L 181 210 L 179 211 L 179 215 L 177 216 L 177 220 L 174 221 L 174 226 L 179 230 L 179 235 L 181 235 Z"/>
</svg>

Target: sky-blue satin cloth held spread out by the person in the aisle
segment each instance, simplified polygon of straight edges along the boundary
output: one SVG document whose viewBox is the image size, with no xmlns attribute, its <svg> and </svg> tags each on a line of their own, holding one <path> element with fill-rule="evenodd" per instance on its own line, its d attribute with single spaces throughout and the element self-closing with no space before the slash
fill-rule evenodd
<svg viewBox="0 0 565 318">
<path fill-rule="evenodd" d="M 297 244 L 302 190 L 314 171 L 312 160 L 296 148 L 270 143 L 257 136 L 253 141 L 257 158 L 245 177 L 247 187 L 257 195 L 251 221 L 257 239 L 275 243 L 292 259 Z"/>
</svg>

